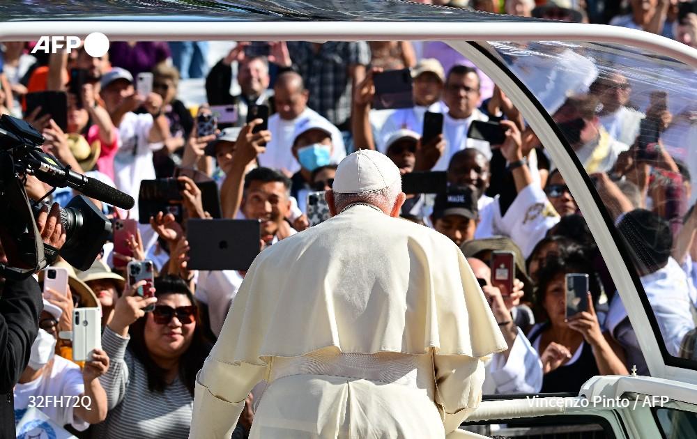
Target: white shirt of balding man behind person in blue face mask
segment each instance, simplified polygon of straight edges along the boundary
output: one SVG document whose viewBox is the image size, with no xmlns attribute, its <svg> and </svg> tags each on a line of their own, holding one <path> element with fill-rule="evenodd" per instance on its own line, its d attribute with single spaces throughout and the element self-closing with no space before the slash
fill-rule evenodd
<svg viewBox="0 0 697 439">
<path fill-rule="evenodd" d="M 300 163 L 293 157 L 293 133 L 296 130 L 298 121 L 305 118 L 323 118 L 316 111 L 309 107 L 300 113 L 300 116 L 286 121 L 276 113 L 268 118 L 268 130 L 271 132 L 271 141 L 266 145 L 266 151 L 259 154 L 259 164 L 271 169 L 287 169 L 292 174 L 300 171 Z M 326 119 L 325 119 L 326 120 Z M 346 146 L 344 137 L 339 128 L 333 127 L 332 130 L 332 163 L 339 163 L 346 157 Z"/>
</svg>

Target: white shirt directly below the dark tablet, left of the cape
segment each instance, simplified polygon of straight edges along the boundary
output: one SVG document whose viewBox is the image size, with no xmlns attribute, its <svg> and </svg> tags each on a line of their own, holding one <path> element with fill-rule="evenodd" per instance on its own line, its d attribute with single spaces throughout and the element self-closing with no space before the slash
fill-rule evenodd
<svg viewBox="0 0 697 439">
<path fill-rule="evenodd" d="M 208 305 L 210 330 L 215 337 L 220 335 L 227 311 L 232 307 L 243 277 L 237 270 L 199 272 L 196 298 Z"/>
</svg>

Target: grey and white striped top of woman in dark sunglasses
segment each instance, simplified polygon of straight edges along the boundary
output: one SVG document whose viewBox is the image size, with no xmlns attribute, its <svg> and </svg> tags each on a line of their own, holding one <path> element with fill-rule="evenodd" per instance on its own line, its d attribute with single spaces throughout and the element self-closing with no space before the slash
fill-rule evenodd
<svg viewBox="0 0 697 439">
<path fill-rule="evenodd" d="M 130 338 L 105 328 L 102 348 L 109 370 L 99 380 L 107 393 L 107 419 L 93 426 L 93 438 L 188 438 L 194 399 L 177 376 L 164 392 L 148 390 L 145 367 L 126 350 Z"/>
</svg>

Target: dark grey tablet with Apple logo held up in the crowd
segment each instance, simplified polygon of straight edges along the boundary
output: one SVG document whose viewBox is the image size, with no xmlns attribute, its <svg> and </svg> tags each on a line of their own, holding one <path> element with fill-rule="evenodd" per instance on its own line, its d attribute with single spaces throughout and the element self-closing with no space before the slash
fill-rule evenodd
<svg viewBox="0 0 697 439">
<path fill-rule="evenodd" d="M 257 219 L 189 219 L 190 270 L 246 271 L 261 250 Z"/>
</svg>

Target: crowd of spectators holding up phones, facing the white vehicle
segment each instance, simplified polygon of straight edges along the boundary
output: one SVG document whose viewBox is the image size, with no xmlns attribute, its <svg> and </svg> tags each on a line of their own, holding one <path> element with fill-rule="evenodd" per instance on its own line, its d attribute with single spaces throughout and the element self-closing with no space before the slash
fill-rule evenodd
<svg viewBox="0 0 697 439">
<path fill-rule="evenodd" d="M 678 17 L 682 2 L 631 0 L 627 9 L 613 10 L 615 3 L 620 2 L 470 0 L 468 6 L 609 23 L 697 47 L 697 15 Z M 208 66 L 201 42 L 112 42 L 101 58 L 84 48 L 31 55 L 32 43 L 3 43 L 0 113 L 29 122 L 45 137 L 44 150 L 63 164 L 135 199 L 142 180 L 196 169 L 217 182 L 221 217 L 259 220 L 262 252 L 309 228 L 308 194 L 330 189 L 337 164 L 351 151 L 379 151 L 403 176 L 445 172 L 443 192 L 407 194 L 401 217 L 455 242 L 491 305 L 509 349 L 487 364 L 484 393 L 577 392 L 592 376 L 627 374 L 634 366 L 648 375 L 610 270 L 564 176 L 520 111 L 473 63 L 443 43 L 263 44 L 238 42 Z M 256 54 L 260 45 L 268 54 Z M 77 94 L 70 86 L 74 68 L 89 72 Z M 376 76 L 402 68 L 411 68 L 414 106 L 373 109 Z M 147 95 L 136 89 L 142 72 L 153 74 Z M 201 93 L 208 104 L 187 107 L 178 88 L 195 77 L 205 77 Z M 691 358 L 697 337 L 693 180 L 690 167 L 661 142 L 661 133 L 683 115 L 671 114 L 660 100 L 633 107 L 632 84 L 621 68 L 578 81 L 563 102 L 543 104 L 553 109 L 625 240 L 668 353 Z M 66 115 L 23 111 L 25 95 L 36 91 L 65 91 Z M 199 116 L 219 105 L 234 107 L 236 120 L 199 135 Z M 247 123 L 247 114 L 260 105 L 270 109 L 265 130 L 254 129 L 262 120 Z M 443 125 L 441 134 L 424 141 L 427 111 L 442 114 Z M 60 117 L 67 119 L 64 129 L 56 122 Z M 468 138 L 473 121 L 499 122 L 505 140 L 493 145 Z M 657 137 L 646 142 L 644 132 L 652 127 Z M 187 220 L 212 215 L 194 180 L 176 178 L 183 221 L 167 212 L 154 215 L 125 242 L 128 254 L 107 242 L 89 270 L 59 262 L 70 272 L 70 291 L 67 298 L 44 295 L 40 335 L 15 387 L 17 421 L 30 396 L 86 395 L 91 410 L 59 407 L 45 415 L 79 437 L 187 437 L 196 373 L 220 335 L 245 272 L 187 267 Z M 27 176 L 31 199 L 42 199 L 50 189 Z M 66 206 L 73 196 L 70 189 L 58 189 L 51 197 Z M 110 217 L 139 217 L 138 203 L 130 211 L 95 204 Z M 515 255 L 514 287 L 508 292 L 492 282 L 491 255 L 500 251 Z M 153 261 L 158 272 L 153 298 L 136 293 L 144 282 L 125 283 L 125 263 L 144 260 Z M 587 274 L 590 291 L 587 309 L 566 318 L 569 273 Z M 153 311 L 145 310 L 152 305 Z M 70 341 L 59 332 L 71 330 L 72 309 L 91 306 L 102 311 L 102 350 L 76 364 Z M 259 385 L 233 438 L 249 433 L 254 403 L 262 397 Z"/>
</svg>

